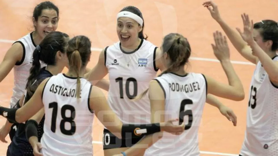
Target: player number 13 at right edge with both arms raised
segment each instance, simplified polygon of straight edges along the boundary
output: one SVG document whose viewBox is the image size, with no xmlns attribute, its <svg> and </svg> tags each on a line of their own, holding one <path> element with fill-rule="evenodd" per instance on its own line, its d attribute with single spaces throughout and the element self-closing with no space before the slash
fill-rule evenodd
<svg viewBox="0 0 278 156">
<path fill-rule="evenodd" d="M 256 64 L 252 76 L 245 138 L 241 156 L 277 155 L 278 149 L 278 24 L 273 20 L 250 22 L 248 15 L 241 15 L 244 32 L 232 30 L 220 17 L 213 2 L 203 4 L 220 24 L 237 51 Z M 212 7 L 212 8 L 211 8 Z"/>
</svg>

